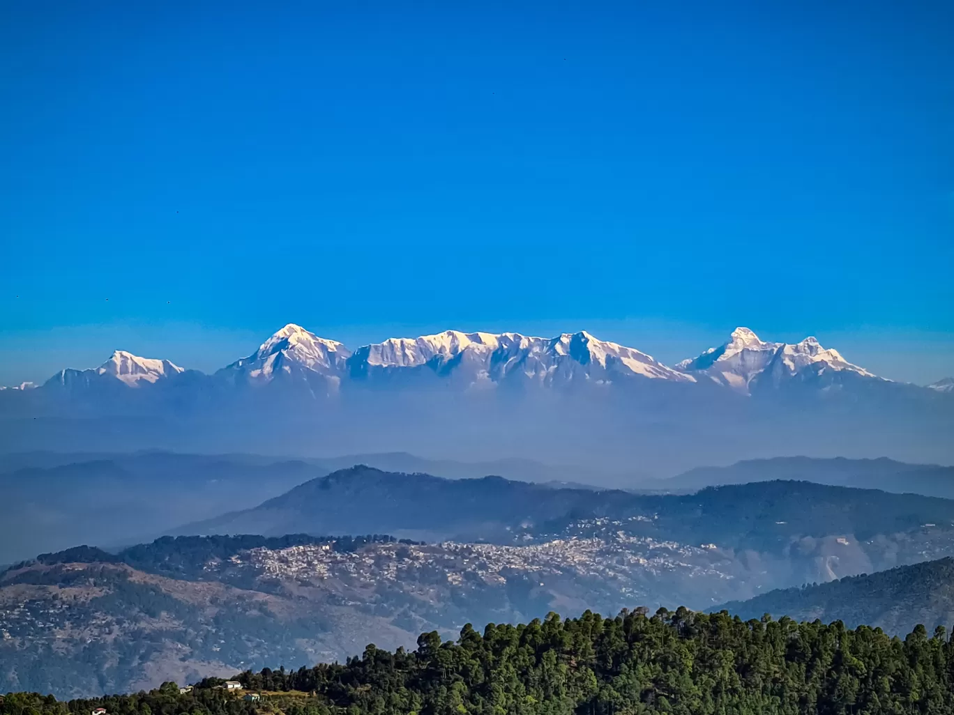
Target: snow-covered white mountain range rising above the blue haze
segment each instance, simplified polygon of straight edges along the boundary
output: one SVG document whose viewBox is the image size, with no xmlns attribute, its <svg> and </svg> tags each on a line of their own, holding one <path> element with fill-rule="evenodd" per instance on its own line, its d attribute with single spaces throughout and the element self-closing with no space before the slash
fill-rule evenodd
<svg viewBox="0 0 954 715">
<path fill-rule="evenodd" d="M 682 384 L 716 383 L 744 395 L 796 378 L 825 378 L 821 381 L 825 386 L 830 386 L 832 379 L 844 377 L 887 381 L 848 362 L 837 350 L 822 347 L 815 337 L 797 343 L 772 342 L 743 327 L 736 328 L 722 345 L 670 367 L 635 348 L 600 340 L 585 331 L 532 337 L 448 330 L 430 336 L 392 337 L 352 352 L 341 342 L 319 337 L 294 323 L 285 325 L 254 353 L 223 367 L 213 377 L 249 386 L 276 380 L 318 381 L 322 389 L 333 392 L 342 380 L 393 377 L 412 371 L 460 378 L 470 388 L 493 387 L 510 380 L 551 386 L 573 381 L 607 385 L 645 378 Z M 185 372 L 169 360 L 116 351 L 97 368 L 62 370 L 44 386 L 75 387 L 114 378 L 137 388 Z M 942 380 L 930 388 L 951 392 L 952 381 Z"/>
</svg>

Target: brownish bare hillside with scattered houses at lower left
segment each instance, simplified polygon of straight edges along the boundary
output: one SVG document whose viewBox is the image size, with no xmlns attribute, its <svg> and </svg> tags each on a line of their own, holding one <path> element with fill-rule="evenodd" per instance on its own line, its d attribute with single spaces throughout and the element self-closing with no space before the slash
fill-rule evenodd
<svg viewBox="0 0 954 715">
<path fill-rule="evenodd" d="M 0 689 L 68 695 L 313 663 L 410 640 L 372 614 L 173 580 L 122 563 L 31 565 L 0 581 Z M 396 635 L 391 635 L 391 634 Z"/>
</svg>

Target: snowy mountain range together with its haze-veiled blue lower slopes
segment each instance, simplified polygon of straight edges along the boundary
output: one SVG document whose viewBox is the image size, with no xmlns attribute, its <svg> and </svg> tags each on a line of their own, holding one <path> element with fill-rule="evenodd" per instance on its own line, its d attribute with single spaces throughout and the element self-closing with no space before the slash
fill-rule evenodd
<svg viewBox="0 0 954 715">
<path fill-rule="evenodd" d="M 744 328 L 668 366 L 586 332 L 447 331 L 352 351 L 289 324 L 213 375 L 117 353 L 5 390 L 0 451 L 585 454 L 660 476 L 775 454 L 946 463 L 951 395 L 878 378 L 815 338 Z"/>
</svg>

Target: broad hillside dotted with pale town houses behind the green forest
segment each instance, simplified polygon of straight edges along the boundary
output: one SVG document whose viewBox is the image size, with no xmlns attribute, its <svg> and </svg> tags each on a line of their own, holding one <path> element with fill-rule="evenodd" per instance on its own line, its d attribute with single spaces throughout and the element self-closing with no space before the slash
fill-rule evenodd
<svg viewBox="0 0 954 715">
<path fill-rule="evenodd" d="M 757 501 L 777 504 L 786 486 L 756 485 L 730 496 L 766 492 L 741 500 L 740 511 L 757 513 Z M 695 508 L 697 526 L 712 521 L 708 505 Z M 841 508 L 858 520 L 867 507 Z M 897 520 L 909 508 L 902 504 L 886 516 Z M 640 533 L 644 527 L 673 533 L 685 519 L 686 512 L 658 519 L 576 516 L 558 533 L 525 530 L 511 544 L 182 537 L 116 554 L 88 546 L 44 554 L 0 574 L 0 689 L 97 694 L 170 679 L 195 682 L 264 663 L 294 671 L 342 661 L 369 642 L 409 648 L 422 630 L 448 637 L 467 623 L 527 621 L 558 609 L 706 608 L 808 575 L 796 563 L 811 556 L 806 537 L 779 544 L 773 557 Z M 725 519 L 739 522 L 734 514 Z M 877 516 L 866 519 L 866 526 L 855 521 L 859 531 L 879 528 Z M 825 521 L 830 514 L 821 512 L 798 525 L 798 533 Z M 757 520 L 742 524 L 736 542 L 752 543 L 746 534 L 760 528 Z M 840 549 L 840 557 L 822 557 L 831 562 L 877 543 L 896 559 L 922 559 L 931 549 L 951 553 L 950 532 L 845 544 L 832 538 L 817 554 Z M 786 553 L 789 562 L 779 570 Z"/>
</svg>

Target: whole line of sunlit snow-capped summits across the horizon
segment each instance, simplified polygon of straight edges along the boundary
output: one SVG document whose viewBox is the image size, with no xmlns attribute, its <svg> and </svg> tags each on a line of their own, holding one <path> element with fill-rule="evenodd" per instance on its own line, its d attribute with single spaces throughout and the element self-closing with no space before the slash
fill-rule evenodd
<svg viewBox="0 0 954 715">
<path fill-rule="evenodd" d="M 319 337 L 295 323 L 288 323 L 264 340 L 248 357 L 235 360 L 212 376 L 267 382 L 282 372 L 291 373 L 298 368 L 326 377 L 342 378 L 375 368 L 416 368 L 433 361 L 446 364 L 464 356 L 480 364 L 486 374 L 484 377 L 491 379 L 506 377 L 509 370 L 518 366 L 528 377 L 545 376 L 559 358 L 570 358 L 581 365 L 592 363 L 603 369 L 609 366 L 617 375 L 632 374 L 680 382 L 694 382 L 696 375 L 700 375 L 743 392 L 748 390 L 754 378 L 766 371 L 778 380 L 819 364 L 864 378 L 877 378 L 845 360 L 837 350 L 823 348 L 815 337 L 806 337 L 798 343 L 771 342 L 742 327 L 736 328 L 723 345 L 709 348 L 700 356 L 681 360 L 671 367 L 636 348 L 600 340 L 585 330 L 556 337 L 447 330 L 419 337 L 390 337 L 352 351 L 337 340 Z M 132 353 L 115 351 L 98 368 L 62 370 L 47 383 L 63 382 L 69 379 L 66 377 L 68 373 L 78 376 L 91 371 L 110 375 L 131 386 L 140 380 L 156 382 L 159 378 L 185 372 L 169 360 L 139 358 Z M 932 387 L 940 390 L 938 386 Z"/>
</svg>

